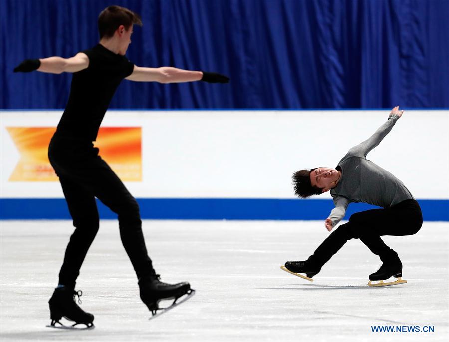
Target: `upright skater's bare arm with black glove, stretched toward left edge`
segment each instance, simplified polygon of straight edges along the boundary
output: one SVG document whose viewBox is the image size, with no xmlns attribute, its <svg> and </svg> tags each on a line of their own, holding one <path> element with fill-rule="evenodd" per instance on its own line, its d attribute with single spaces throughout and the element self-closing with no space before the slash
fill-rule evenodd
<svg viewBox="0 0 449 342">
<path fill-rule="evenodd" d="M 51 74 L 60 74 L 62 72 L 77 72 L 86 69 L 89 66 L 89 57 L 85 53 L 77 53 L 71 58 L 48 57 L 41 59 L 25 59 L 14 72 L 40 71 Z"/>
</svg>

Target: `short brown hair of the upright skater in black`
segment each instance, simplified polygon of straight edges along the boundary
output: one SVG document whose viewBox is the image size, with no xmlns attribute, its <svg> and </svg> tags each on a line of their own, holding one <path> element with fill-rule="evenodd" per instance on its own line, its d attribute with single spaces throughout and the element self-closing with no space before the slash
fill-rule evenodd
<svg viewBox="0 0 449 342">
<path fill-rule="evenodd" d="M 142 26 L 142 20 L 138 14 L 125 7 L 109 6 L 103 9 L 98 16 L 100 39 L 112 37 L 120 25 L 125 26 L 126 30 L 128 30 L 132 24 Z"/>
</svg>

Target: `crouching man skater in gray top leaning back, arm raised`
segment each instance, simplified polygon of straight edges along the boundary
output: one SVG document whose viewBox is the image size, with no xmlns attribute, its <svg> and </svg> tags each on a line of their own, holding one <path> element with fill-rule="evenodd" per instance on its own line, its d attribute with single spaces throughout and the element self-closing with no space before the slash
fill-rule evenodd
<svg viewBox="0 0 449 342">
<path fill-rule="evenodd" d="M 316 168 L 293 174 L 295 194 L 306 198 L 330 190 L 335 208 L 324 225 L 331 231 L 345 216 L 351 202 L 374 204 L 383 209 L 358 212 L 349 222 L 338 227 L 305 261 L 287 261 L 285 268 L 295 274 L 316 275 L 321 267 L 350 239 L 360 239 L 382 261 L 379 270 L 369 276 L 370 286 L 399 284 L 382 281 L 402 277 L 402 263 L 398 254 L 381 239 L 382 235 L 413 235 L 423 224 L 421 208 L 405 185 L 390 172 L 366 159 L 391 131 L 404 111 L 392 109 L 388 120 L 367 140 L 351 148 L 335 169 Z M 300 275 L 301 276 L 301 275 Z M 371 281 L 380 283 L 371 284 Z"/>
</svg>

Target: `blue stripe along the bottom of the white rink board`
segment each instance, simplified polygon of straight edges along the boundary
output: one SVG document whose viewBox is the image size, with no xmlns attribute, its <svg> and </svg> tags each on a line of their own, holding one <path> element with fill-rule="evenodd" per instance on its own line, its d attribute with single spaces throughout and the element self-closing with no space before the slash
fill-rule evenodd
<svg viewBox="0 0 449 342">
<path fill-rule="evenodd" d="M 330 199 L 138 198 L 143 219 L 187 220 L 324 220 L 334 207 Z M 448 199 L 418 200 L 425 221 L 449 221 Z M 377 208 L 351 203 L 345 219 Z M 102 219 L 117 215 L 98 202 Z M 71 219 L 63 198 L 1 198 L 0 219 Z"/>
</svg>

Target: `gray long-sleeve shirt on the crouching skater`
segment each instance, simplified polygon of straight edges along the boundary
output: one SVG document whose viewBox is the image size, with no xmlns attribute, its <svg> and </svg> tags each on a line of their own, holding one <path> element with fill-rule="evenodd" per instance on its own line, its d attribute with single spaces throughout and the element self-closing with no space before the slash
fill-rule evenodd
<svg viewBox="0 0 449 342">
<path fill-rule="evenodd" d="M 398 178 L 366 159 L 368 152 L 379 145 L 398 119 L 398 115 L 390 115 L 370 138 L 352 147 L 338 163 L 337 168 L 341 169 L 342 174 L 337 186 L 330 192 L 335 208 L 328 217 L 333 227 L 345 216 L 351 202 L 389 208 L 406 199 L 414 199 Z"/>
</svg>

